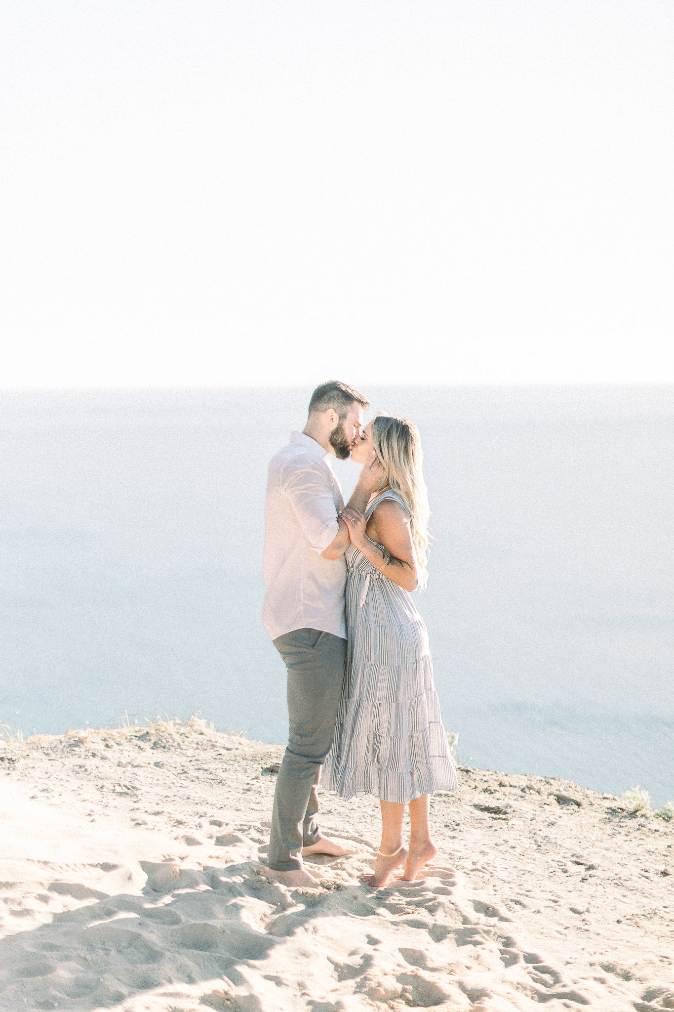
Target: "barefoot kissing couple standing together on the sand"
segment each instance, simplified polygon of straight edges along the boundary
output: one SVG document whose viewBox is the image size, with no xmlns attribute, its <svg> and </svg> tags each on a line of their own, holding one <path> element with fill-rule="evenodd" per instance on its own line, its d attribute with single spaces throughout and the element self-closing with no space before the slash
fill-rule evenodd
<svg viewBox="0 0 674 1012">
<path fill-rule="evenodd" d="M 411 592 L 426 582 L 428 499 L 411 422 L 377 415 L 333 381 L 314 390 L 302 432 L 269 466 L 262 618 L 288 670 L 290 734 L 272 814 L 269 874 L 316 887 L 310 854 L 358 853 L 321 836 L 317 784 L 377 794 L 374 873 L 413 881 L 438 853 L 429 796 L 453 790 L 425 625 Z M 363 465 L 345 507 L 332 455 Z M 409 845 L 402 839 L 409 807 Z"/>
</svg>

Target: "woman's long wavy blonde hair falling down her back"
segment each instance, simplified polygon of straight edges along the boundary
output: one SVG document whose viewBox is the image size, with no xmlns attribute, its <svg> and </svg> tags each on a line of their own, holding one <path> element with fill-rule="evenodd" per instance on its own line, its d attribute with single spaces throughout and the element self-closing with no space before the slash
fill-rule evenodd
<svg viewBox="0 0 674 1012">
<path fill-rule="evenodd" d="M 405 418 L 377 415 L 372 423 L 372 443 L 384 471 L 375 494 L 386 487 L 397 492 L 409 510 L 412 543 L 418 562 L 419 587 L 428 579 L 428 490 L 423 481 L 423 451 L 419 430 Z"/>
</svg>

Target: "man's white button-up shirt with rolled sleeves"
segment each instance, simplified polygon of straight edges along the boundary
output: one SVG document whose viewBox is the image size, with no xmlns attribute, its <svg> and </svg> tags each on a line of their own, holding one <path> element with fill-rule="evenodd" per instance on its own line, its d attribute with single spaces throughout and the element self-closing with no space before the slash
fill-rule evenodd
<svg viewBox="0 0 674 1012">
<path fill-rule="evenodd" d="M 301 628 L 347 639 L 347 564 L 344 556 L 320 558 L 336 537 L 344 509 L 331 455 L 315 439 L 293 432 L 269 466 L 262 620 L 272 640 Z"/>
</svg>

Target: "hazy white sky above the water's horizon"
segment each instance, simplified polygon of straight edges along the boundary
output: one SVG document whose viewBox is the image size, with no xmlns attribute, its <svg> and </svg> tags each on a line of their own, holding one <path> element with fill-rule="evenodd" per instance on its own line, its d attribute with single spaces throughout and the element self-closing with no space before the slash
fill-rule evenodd
<svg viewBox="0 0 674 1012">
<path fill-rule="evenodd" d="M 674 5 L 3 0 L 0 387 L 674 382 Z"/>
</svg>

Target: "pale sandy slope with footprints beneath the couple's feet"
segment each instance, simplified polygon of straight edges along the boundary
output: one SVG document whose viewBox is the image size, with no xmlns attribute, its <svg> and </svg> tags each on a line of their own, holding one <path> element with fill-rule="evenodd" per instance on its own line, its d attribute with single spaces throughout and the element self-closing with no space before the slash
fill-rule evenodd
<svg viewBox="0 0 674 1012">
<path fill-rule="evenodd" d="M 376 799 L 323 794 L 363 855 L 288 892 L 260 874 L 280 752 L 198 725 L 0 745 L 0 1012 L 674 1008 L 671 824 L 462 770 L 427 877 L 373 891 Z"/>
</svg>

